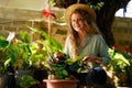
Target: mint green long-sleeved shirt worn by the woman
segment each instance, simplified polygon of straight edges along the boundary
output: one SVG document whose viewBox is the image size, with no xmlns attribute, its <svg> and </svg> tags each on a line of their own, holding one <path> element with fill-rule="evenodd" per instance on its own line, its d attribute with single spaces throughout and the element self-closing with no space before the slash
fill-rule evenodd
<svg viewBox="0 0 132 88">
<path fill-rule="evenodd" d="M 102 35 L 88 35 L 88 37 L 84 41 L 85 46 L 80 47 L 79 43 L 77 44 L 77 50 L 80 56 L 86 56 L 88 54 L 101 57 L 103 61 L 103 65 L 108 65 L 110 62 L 108 45 L 106 44 Z M 66 38 L 64 53 L 69 56 L 69 37 Z M 69 56 L 70 57 L 70 56 Z M 99 65 L 99 64 L 95 64 Z"/>
</svg>

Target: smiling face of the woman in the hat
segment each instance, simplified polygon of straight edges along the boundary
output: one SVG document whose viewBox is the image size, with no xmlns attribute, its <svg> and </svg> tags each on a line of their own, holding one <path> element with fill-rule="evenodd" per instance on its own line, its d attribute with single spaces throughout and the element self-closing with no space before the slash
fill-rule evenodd
<svg viewBox="0 0 132 88">
<path fill-rule="evenodd" d="M 77 32 L 84 32 L 86 21 L 81 18 L 78 12 L 72 14 L 72 26 Z"/>
</svg>

